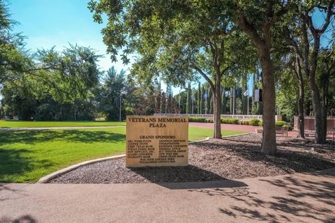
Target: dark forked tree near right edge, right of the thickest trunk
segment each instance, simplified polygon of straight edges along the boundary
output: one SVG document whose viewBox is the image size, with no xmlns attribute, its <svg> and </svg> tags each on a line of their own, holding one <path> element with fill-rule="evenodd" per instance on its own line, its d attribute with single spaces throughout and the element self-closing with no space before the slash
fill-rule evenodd
<svg viewBox="0 0 335 223">
<path fill-rule="evenodd" d="M 316 82 L 316 72 L 320 54 L 320 39 L 335 16 L 334 2 L 334 0 L 301 1 L 295 7 L 295 24 L 288 26 L 292 48 L 299 56 L 308 87 L 311 89 L 315 119 L 315 143 L 318 144 L 323 144 L 326 141 L 327 114 L 322 111 L 322 98 Z M 325 20 L 322 26 L 317 26 L 313 21 L 313 15 L 320 12 L 324 13 Z"/>
</svg>

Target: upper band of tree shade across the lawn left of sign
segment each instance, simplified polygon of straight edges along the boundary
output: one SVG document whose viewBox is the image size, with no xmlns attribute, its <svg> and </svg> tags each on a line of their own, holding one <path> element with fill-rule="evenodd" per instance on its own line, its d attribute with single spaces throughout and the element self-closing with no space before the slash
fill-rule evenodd
<svg viewBox="0 0 335 223">
<path fill-rule="evenodd" d="M 29 130 L 29 131 L 4 131 L 0 132 L 0 146 L 3 144 L 24 143 L 34 144 L 38 142 L 61 139 L 69 142 L 94 143 L 97 141 L 114 142 L 125 140 L 125 134 L 107 131 L 89 130 Z"/>
</svg>

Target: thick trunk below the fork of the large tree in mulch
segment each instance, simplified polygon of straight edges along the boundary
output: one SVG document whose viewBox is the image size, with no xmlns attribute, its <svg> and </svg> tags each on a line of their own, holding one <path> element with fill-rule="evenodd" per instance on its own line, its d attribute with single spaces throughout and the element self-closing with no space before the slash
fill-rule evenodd
<svg viewBox="0 0 335 223">
<path fill-rule="evenodd" d="M 276 93 L 274 88 L 274 63 L 271 61 L 269 50 L 260 55 L 262 67 L 262 100 L 263 100 L 263 139 L 262 153 L 275 155 L 276 148 L 276 127 L 275 108 Z"/>
</svg>

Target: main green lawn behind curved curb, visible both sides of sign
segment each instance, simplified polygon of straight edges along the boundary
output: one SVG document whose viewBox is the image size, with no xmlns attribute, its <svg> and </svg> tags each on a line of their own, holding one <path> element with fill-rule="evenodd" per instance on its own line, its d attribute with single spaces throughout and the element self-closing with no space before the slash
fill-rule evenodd
<svg viewBox="0 0 335 223">
<path fill-rule="evenodd" d="M 30 130 L 0 132 L 0 182 L 34 183 L 59 169 L 125 153 L 126 128 Z M 223 131 L 223 135 L 239 134 Z M 213 130 L 189 128 L 189 140 L 211 136 Z"/>
</svg>

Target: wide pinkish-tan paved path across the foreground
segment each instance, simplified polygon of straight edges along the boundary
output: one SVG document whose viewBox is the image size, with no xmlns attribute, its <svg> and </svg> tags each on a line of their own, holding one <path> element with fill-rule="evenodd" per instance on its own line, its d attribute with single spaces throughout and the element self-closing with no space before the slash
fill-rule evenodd
<svg viewBox="0 0 335 223">
<path fill-rule="evenodd" d="M 330 223 L 334 212 L 335 168 L 211 183 L 0 185 L 1 223 Z"/>
</svg>

